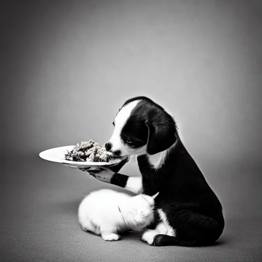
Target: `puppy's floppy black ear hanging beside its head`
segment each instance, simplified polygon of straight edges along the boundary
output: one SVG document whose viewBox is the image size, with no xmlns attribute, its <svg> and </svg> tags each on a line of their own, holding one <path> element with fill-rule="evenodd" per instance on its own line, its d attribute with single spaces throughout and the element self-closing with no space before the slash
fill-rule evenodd
<svg viewBox="0 0 262 262">
<path fill-rule="evenodd" d="M 176 124 L 174 122 L 150 124 L 146 121 L 145 124 L 148 127 L 146 143 L 146 152 L 148 155 L 164 151 L 176 142 Z"/>
</svg>

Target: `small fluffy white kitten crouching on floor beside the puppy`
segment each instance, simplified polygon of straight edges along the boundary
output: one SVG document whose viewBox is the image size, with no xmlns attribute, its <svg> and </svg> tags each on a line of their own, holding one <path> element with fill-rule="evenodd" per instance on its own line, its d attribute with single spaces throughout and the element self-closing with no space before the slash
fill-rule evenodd
<svg viewBox="0 0 262 262">
<path fill-rule="evenodd" d="M 141 231 L 152 222 L 158 194 L 131 197 L 111 189 L 91 192 L 79 205 L 78 221 L 83 230 L 101 234 L 105 241 L 116 241 L 120 238 L 118 233 Z"/>
</svg>

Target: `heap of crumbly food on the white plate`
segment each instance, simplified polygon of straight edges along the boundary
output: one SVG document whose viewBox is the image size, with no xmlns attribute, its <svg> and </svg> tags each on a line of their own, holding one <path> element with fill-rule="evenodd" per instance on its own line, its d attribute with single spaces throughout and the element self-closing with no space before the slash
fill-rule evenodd
<svg viewBox="0 0 262 262">
<path fill-rule="evenodd" d="M 113 152 L 106 151 L 105 147 L 93 140 L 77 144 L 65 154 L 65 160 L 80 162 L 109 162 L 118 157 Z"/>
</svg>

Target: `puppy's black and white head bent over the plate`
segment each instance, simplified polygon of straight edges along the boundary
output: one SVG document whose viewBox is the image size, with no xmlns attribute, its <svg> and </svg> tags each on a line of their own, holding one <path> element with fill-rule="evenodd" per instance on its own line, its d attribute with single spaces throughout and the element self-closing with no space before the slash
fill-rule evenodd
<svg viewBox="0 0 262 262">
<path fill-rule="evenodd" d="M 154 155 L 176 142 L 177 127 L 173 118 L 147 97 L 127 100 L 113 125 L 113 135 L 105 147 L 120 157 Z"/>
</svg>

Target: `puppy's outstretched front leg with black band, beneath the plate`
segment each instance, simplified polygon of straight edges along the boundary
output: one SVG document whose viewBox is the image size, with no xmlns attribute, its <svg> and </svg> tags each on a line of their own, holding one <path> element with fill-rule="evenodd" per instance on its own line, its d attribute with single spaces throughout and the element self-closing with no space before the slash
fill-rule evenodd
<svg viewBox="0 0 262 262">
<path fill-rule="evenodd" d="M 89 169 L 81 169 L 87 171 L 99 181 L 110 183 L 116 186 L 123 187 L 136 194 L 141 192 L 142 178 L 128 177 L 125 174 L 116 173 L 108 167 L 91 167 Z"/>
</svg>

